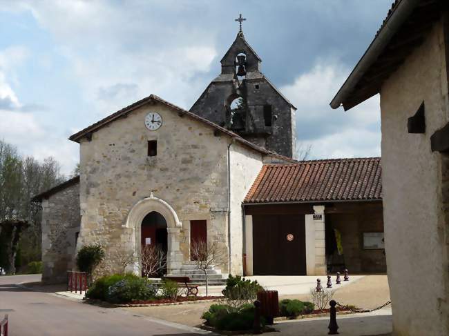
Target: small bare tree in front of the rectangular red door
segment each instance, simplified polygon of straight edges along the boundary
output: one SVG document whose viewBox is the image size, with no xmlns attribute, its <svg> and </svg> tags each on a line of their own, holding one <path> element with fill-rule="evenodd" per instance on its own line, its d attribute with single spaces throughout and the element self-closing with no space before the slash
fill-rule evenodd
<svg viewBox="0 0 449 336">
<path fill-rule="evenodd" d="M 207 270 L 214 264 L 223 261 L 226 256 L 225 250 L 220 247 L 217 241 L 207 244 L 207 241 L 193 241 L 191 246 L 191 259 L 195 261 L 195 266 L 204 272 L 206 277 L 206 296 L 209 295 L 209 277 Z"/>
</svg>

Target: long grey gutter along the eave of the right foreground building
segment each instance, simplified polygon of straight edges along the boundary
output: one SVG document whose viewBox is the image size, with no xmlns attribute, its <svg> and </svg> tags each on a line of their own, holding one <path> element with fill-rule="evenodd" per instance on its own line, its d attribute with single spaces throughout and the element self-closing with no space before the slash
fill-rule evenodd
<svg viewBox="0 0 449 336">
<path fill-rule="evenodd" d="M 334 99 L 330 102 L 332 108 L 339 108 L 343 105 L 343 101 L 351 94 L 356 84 L 363 77 L 365 72 L 370 68 L 372 63 L 381 55 L 381 52 L 390 42 L 393 35 L 399 30 L 404 21 L 408 18 L 410 13 L 417 7 L 421 0 L 402 0 L 394 8 L 394 12 L 390 14 L 390 18 L 379 34 L 374 37 L 370 46 L 367 48 L 359 62 L 356 64 L 354 70 L 352 70 L 349 77 L 347 77 L 343 86 L 336 93 Z M 346 110 L 346 108 L 345 108 Z"/>
</svg>

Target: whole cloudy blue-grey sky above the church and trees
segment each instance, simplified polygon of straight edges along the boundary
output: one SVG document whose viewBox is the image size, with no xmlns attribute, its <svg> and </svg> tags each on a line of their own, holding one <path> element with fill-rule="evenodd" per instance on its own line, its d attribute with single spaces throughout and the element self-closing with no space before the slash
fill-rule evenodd
<svg viewBox="0 0 449 336">
<path fill-rule="evenodd" d="M 329 102 L 391 2 L 0 0 L 0 139 L 70 174 L 78 130 L 151 94 L 189 109 L 241 12 L 262 72 L 298 108 L 298 146 L 311 159 L 379 156 L 379 97 L 348 112 Z"/>
</svg>

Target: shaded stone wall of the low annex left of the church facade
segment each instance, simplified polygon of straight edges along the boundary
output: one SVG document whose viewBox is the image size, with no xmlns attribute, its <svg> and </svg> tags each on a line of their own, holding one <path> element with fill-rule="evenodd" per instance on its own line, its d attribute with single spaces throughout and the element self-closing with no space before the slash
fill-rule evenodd
<svg viewBox="0 0 449 336">
<path fill-rule="evenodd" d="M 75 239 L 79 233 L 79 184 L 68 186 L 42 200 L 42 281 L 65 282 L 72 270 Z"/>
</svg>

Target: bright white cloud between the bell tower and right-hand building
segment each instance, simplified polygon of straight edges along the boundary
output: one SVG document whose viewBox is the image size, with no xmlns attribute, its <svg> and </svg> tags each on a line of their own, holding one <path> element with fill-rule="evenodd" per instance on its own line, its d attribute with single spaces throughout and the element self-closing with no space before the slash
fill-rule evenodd
<svg viewBox="0 0 449 336">
<path fill-rule="evenodd" d="M 312 146 L 313 158 L 381 155 L 378 96 L 348 112 L 329 107 L 349 71 L 336 60 L 318 60 L 309 72 L 281 88 L 298 108 L 297 146 Z"/>
</svg>

